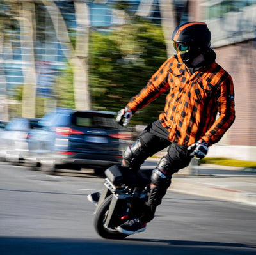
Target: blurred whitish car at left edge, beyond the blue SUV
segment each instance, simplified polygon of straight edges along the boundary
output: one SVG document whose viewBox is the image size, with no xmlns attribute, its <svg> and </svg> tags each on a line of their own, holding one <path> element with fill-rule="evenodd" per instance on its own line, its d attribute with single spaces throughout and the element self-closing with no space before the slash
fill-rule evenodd
<svg viewBox="0 0 256 255">
<path fill-rule="evenodd" d="M 0 158 L 19 162 L 28 157 L 28 132 L 38 127 L 40 118 L 13 118 L 0 133 Z"/>
</svg>

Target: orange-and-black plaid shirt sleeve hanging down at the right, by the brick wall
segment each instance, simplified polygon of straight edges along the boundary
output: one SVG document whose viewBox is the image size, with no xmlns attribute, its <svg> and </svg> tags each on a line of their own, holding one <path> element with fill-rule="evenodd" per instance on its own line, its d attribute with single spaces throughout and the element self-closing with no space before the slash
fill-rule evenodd
<svg viewBox="0 0 256 255">
<path fill-rule="evenodd" d="M 230 75 L 217 88 L 219 117 L 202 137 L 209 145 L 220 141 L 235 120 L 234 85 Z"/>
</svg>

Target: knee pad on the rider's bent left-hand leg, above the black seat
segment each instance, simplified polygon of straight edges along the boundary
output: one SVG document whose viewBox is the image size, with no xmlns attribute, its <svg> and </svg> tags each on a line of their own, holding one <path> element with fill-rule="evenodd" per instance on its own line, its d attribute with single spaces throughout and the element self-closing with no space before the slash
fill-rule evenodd
<svg viewBox="0 0 256 255">
<path fill-rule="evenodd" d="M 123 155 L 123 165 L 129 168 L 139 168 L 147 158 L 147 147 L 138 139 L 134 144 L 127 147 Z"/>
</svg>

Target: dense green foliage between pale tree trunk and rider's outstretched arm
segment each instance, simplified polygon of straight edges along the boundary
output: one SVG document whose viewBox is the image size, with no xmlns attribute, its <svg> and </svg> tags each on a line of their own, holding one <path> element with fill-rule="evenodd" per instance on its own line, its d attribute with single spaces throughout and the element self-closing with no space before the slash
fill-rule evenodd
<svg viewBox="0 0 256 255">
<path fill-rule="evenodd" d="M 125 107 L 166 60 L 161 27 L 133 19 L 115 31 L 90 34 L 90 93 L 94 109 L 119 111 Z M 165 97 L 141 109 L 133 124 L 156 120 Z"/>
</svg>

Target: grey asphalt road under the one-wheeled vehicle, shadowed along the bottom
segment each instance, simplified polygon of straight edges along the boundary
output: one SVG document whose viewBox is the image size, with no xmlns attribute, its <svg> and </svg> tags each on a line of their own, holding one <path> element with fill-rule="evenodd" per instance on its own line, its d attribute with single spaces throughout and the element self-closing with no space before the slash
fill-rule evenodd
<svg viewBox="0 0 256 255">
<path fill-rule="evenodd" d="M 86 196 L 102 178 L 0 162 L 0 254 L 256 254 L 255 207 L 168 191 L 144 233 L 104 240 Z"/>
</svg>

